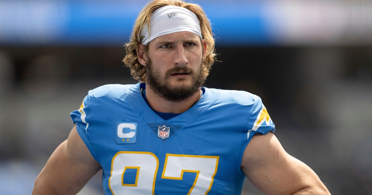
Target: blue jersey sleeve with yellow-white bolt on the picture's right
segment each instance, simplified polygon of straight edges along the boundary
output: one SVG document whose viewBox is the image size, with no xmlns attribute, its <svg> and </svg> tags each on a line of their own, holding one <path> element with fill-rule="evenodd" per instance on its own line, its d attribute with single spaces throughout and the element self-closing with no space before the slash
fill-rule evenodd
<svg viewBox="0 0 372 195">
<path fill-rule="evenodd" d="M 246 139 L 250 140 L 256 133 L 267 134 L 269 131 L 275 132 L 275 124 L 270 118 L 266 107 L 262 104 L 261 98 L 257 97 L 256 103 L 248 116 L 246 122 L 247 136 Z"/>
</svg>

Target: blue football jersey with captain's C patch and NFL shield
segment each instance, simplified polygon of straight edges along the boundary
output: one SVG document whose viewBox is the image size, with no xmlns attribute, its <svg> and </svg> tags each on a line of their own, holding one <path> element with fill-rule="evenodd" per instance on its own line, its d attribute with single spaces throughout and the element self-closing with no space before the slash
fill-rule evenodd
<svg viewBox="0 0 372 195">
<path fill-rule="evenodd" d="M 256 95 L 202 90 L 169 120 L 148 106 L 140 83 L 89 91 L 70 116 L 102 167 L 104 194 L 241 194 L 244 149 L 275 126 Z"/>
</svg>

